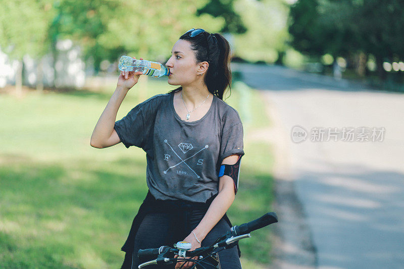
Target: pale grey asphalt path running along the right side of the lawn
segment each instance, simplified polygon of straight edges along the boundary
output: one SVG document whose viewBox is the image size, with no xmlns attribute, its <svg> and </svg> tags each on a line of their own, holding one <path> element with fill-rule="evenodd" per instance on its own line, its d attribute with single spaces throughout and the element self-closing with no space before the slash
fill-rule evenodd
<svg viewBox="0 0 404 269">
<path fill-rule="evenodd" d="M 281 166 L 277 177 L 292 182 L 312 265 L 404 268 L 404 94 L 277 66 L 232 70 L 261 91 L 276 115 L 278 131 L 268 135 Z M 342 133 L 349 129 L 353 137 Z M 284 233 L 298 237 L 303 226 L 291 223 Z M 285 251 L 296 254 L 293 239 L 288 244 Z M 284 267 L 305 267 L 291 259 Z"/>
</svg>

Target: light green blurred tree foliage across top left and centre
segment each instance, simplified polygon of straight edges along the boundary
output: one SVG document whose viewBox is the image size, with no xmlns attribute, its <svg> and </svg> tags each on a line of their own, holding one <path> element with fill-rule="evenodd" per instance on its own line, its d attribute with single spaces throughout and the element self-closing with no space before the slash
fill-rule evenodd
<svg viewBox="0 0 404 269">
<path fill-rule="evenodd" d="M 0 46 L 14 58 L 40 58 L 58 40 L 79 44 L 85 60 L 115 62 L 123 54 L 165 61 L 190 28 L 233 34 L 235 52 L 248 60 L 277 58 L 286 38 L 283 0 L 33 0 L 0 6 Z M 4 15 L 4 16 L 3 16 Z M 255 42 L 250 42 L 254 40 Z M 240 53 L 238 53 L 240 52 Z"/>
</svg>

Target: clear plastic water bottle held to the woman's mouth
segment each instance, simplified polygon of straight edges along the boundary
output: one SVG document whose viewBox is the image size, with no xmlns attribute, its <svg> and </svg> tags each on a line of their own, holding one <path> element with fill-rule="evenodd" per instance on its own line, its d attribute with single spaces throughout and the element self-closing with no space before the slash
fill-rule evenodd
<svg viewBox="0 0 404 269">
<path fill-rule="evenodd" d="M 168 76 L 170 74 L 170 69 L 160 63 L 135 60 L 129 56 L 122 56 L 121 59 L 119 59 L 118 69 L 121 71 L 143 72 L 143 75 L 154 78 Z"/>
</svg>

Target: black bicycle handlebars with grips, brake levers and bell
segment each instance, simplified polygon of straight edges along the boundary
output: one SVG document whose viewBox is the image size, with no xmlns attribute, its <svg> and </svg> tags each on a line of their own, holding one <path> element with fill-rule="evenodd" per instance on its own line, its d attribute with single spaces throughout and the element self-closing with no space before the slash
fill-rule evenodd
<svg viewBox="0 0 404 269">
<path fill-rule="evenodd" d="M 220 264 L 218 262 L 218 252 L 226 248 L 234 247 L 237 241 L 241 239 L 251 237 L 250 232 L 276 222 L 278 222 L 276 213 L 268 212 L 254 221 L 239 226 L 233 226 L 227 234 L 219 237 L 212 245 L 196 248 L 192 251 L 189 251 L 189 249 L 191 249 L 191 244 L 184 241 L 174 244 L 173 248 L 169 246 L 161 246 L 159 248 L 140 249 L 137 252 L 139 258 L 153 259 L 156 256 L 157 258 L 141 263 L 138 268 L 140 269 L 151 264 L 172 264 L 182 261 L 191 261 L 194 264 L 190 269 L 206 269 L 205 266 L 208 265 L 219 269 Z M 178 257 L 174 258 L 174 255 L 178 255 Z M 197 260 L 186 258 L 195 256 L 198 257 Z M 196 265 L 198 265 L 198 267 L 195 267 Z"/>
</svg>

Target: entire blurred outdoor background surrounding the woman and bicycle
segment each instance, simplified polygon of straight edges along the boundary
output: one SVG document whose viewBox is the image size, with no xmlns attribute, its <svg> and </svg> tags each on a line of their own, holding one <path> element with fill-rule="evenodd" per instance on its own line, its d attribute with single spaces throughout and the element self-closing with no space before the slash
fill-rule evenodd
<svg viewBox="0 0 404 269">
<path fill-rule="evenodd" d="M 0 268 L 117 268 L 145 156 L 89 145 L 122 55 L 161 62 L 190 28 L 232 47 L 244 127 L 233 224 L 243 268 L 404 268 L 404 10 L 399 0 L 13 0 L 0 5 Z M 142 76 L 117 115 L 174 89 Z M 229 92 L 230 93 L 230 92 Z M 297 144 L 294 126 L 385 127 Z M 305 137 L 306 138 L 306 137 Z"/>
</svg>

